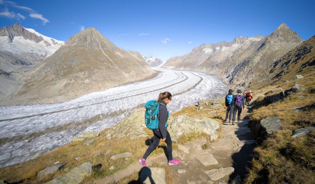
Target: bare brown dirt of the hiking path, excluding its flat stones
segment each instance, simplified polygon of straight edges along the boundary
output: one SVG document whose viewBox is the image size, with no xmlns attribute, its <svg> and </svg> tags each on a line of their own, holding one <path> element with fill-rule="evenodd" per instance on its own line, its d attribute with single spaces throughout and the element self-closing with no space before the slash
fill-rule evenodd
<svg viewBox="0 0 315 184">
<path fill-rule="evenodd" d="M 172 172 L 171 176 L 174 178 L 175 183 L 211 183 L 205 171 L 222 167 L 233 167 L 235 170 L 231 176 L 226 176 L 218 181 L 229 182 L 237 175 L 241 176 L 243 179 L 244 175 L 247 173 L 246 167 L 250 167 L 248 161 L 251 160 L 252 150 L 256 145 L 252 138 L 252 133 L 248 128 L 248 114 L 248 109 L 245 107 L 245 110 L 241 114 L 241 123 L 231 125 L 231 123 L 223 121 L 221 138 L 211 143 L 207 149 L 218 161 L 218 165 L 204 166 L 197 159 L 198 154 L 204 152 L 204 150 L 196 149 L 196 145 L 202 145 L 204 140 L 196 140 L 183 145 L 189 149 L 189 153 L 184 153 L 180 164 L 168 166 Z M 175 158 L 177 151 L 178 150 L 173 153 Z M 148 157 L 146 160 L 147 166 L 150 167 L 156 160 L 159 163 L 167 165 L 165 155 L 161 154 L 157 157 Z M 134 172 L 139 172 L 141 168 L 138 163 L 132 164 L 127 169 L 97 181 L 97 183 L 114 183 Z M 185 170 L 185 173 L 179 173 L 179 169 Z"/>
</svg>

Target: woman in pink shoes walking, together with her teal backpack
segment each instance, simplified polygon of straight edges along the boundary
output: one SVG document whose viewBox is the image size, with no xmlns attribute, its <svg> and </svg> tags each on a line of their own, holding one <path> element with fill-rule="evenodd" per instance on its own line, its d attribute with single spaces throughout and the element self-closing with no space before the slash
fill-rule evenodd
<svg viewBox="0 0 315 184">
<path fill-rule="evenodd" d="M 167 120 L 169 118 L 169 111 L 166 105 L 172 100 L 172 94 L 170 92 L 160 93 L 158 100 L 150 100 L 145 104 L 145 124 L 153 131 L 153 143 L 147 148 L 143 157 L 138 160 L 139 164 L 146 167 L 146 158 L 149 154 L 157 148 L 160 139 L 166 142 L 167 145 L 167 155 L 168 164 L 177 165 L 180 163 L 179 159 L 173 159 L 172 155 L 172 139 L 167 131 Z M 155 106 L 155 104 L 158 105 Z M 153 112 L 154 111 L 154 112 Z"/>
</svg>

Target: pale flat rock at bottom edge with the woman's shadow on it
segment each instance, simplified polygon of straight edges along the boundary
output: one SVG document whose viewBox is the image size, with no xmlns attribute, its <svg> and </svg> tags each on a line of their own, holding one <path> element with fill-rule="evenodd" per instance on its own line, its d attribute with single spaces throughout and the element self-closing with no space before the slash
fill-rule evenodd
<svg viewBox="0 0 315 184">
<path fill-rule="evenodd" d="M 140 170 L 139 182 L 143 184 L 166 184 L 165 170 L 157 167 L 143 167 Z"/>
</svg>

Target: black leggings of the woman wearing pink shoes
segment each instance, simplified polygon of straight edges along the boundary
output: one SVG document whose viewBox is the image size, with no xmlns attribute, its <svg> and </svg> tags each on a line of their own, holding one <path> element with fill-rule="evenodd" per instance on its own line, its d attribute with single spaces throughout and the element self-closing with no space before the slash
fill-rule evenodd
<svg viewBox="0 0 315 184">
<path fill-rule="evenodd" d="M 146 159 L 149 154 L 158 146 L 158 143 L 160 142 L 160 139 L 162 138 L 160 131 L 157 129 L 153 131 L 153 143 L 149 146 L 148 149 L 146 149 L 146 153 L 144 153 L 143 157 Z M 169 131 L 166 130 L 166 145 L 167 145 L 167 155 L 169 160 L 173 160 L 172 156 L 172 140 L 171 136 L 169 135 Z"/>
</svg>

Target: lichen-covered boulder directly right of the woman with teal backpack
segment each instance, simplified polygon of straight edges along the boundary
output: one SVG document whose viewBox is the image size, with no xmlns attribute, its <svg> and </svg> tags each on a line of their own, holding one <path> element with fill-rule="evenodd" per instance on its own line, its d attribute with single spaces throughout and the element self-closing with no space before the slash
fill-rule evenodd
<svg viewBox="0 0 315 184">
<path fill-rule="evenodd" d="M 172 137 L 172 141 L 175 142 L 182 134 L 191 132 L 204 132 L 210 136 L 211 140 L 219 137 L 216 131 L 219 128 L 219 122 L 207 117 L 190 118 L 186 115 L 179 115 L 169 120 L 168 124 L 169 134 Z"/>
</svg>

